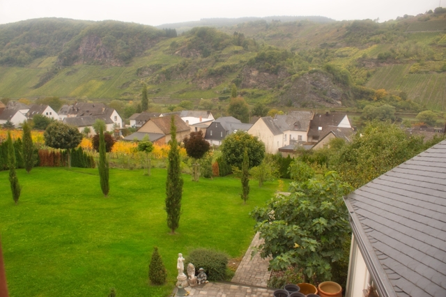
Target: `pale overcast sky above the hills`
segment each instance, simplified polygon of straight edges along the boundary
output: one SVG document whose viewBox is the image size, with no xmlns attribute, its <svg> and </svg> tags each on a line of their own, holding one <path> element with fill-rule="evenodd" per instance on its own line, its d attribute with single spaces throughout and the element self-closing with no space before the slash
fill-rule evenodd
<svg viewBox="0 0 446 297">
<path fill-rule="evenodd" d="M 119 20 L 157 26 L 210 17 L 321 15 L 375 20 L 417 15 L 446 0 L 0 0 L 0 24 L 38 17 Z"/>
</svg>

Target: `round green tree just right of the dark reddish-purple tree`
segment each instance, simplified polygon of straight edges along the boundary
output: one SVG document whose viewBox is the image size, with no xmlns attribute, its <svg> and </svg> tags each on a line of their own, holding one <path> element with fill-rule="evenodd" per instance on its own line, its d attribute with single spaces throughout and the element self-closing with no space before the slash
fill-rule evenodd
<svg viewBox="0 0 446 297">
<path fill-rule="evenodd" d="M 220 146 L 222 160 L 225 160 L 231 166 L 241 169 L 245 147 L 248 149 L 249 168 L 259 166 L 265 155 L 265 144 L 257 137 L 242 130 L 238 130 L 224 138 L 222 146 Z"/>
</svg>

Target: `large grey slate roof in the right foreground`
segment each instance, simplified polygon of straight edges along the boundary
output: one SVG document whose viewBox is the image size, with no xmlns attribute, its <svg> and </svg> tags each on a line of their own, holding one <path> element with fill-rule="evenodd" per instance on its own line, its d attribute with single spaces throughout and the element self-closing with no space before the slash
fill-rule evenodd
<svg viewBox="0 0 446 297">
<path fill-rule="evenodd" d="M 345 201 L 380 297 L 446 296 L 446 141 Z"/>
</svg>

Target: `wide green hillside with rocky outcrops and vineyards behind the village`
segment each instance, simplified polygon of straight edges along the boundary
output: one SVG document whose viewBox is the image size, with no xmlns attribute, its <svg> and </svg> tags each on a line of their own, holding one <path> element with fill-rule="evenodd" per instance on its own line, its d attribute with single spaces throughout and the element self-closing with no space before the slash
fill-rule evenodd
<svg viewBox="0 0 446 297">
<path fill-rule="evenodd" d="M 279 19 L 201 20 L 179 35 L 186 24 L 0 25 L 0 97 L 137 101 L 146 84 L 153 102 L 217 109 L 235 84 L 251 105 L 446 109 L 445 9 L 384 23 Z"/>
</svg>

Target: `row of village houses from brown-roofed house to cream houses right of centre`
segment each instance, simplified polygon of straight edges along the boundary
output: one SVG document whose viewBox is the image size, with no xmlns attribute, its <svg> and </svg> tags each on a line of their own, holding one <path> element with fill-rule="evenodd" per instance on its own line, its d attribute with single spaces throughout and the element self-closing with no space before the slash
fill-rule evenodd
<svg viewBox="0 0 446 297">
<path fill-rule="evenodd" d="M 274 118 L 256 118 L 254 123 L 242 123 L 233 116 L 214 119 L 211 112 L 185 110 L 166 114 L 134 114 L 130 125 L 138 130 L 124 139 L 132 141 L 147 135 L 151 142 L 167 143 L 171 139 L 171 116 L 175 119 L 178 141 L 190 132 L 202 131 L 210 144 L 219 146 L 226 136 L 243 130 L 258 137 L 265 144 L 267 153 L 291 153 L 296 146 L 318 148 L 334 137 L 349 141 L 354 132 L 346 114 L 292 111 Z"/>
</svg>

